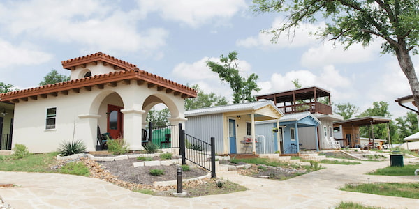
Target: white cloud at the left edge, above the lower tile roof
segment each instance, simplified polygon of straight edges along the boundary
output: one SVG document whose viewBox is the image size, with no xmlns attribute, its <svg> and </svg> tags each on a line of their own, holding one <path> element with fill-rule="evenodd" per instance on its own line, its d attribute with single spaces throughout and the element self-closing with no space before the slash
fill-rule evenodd
<svg viewBox="0 0 419 209">
<path fill-rule="evenodd" d="M 50 59 L 52 59 L 51 54 L 12 45 L 0 39 L 0 68 L 7 68 L 12 65 L 37 65 L 50 61 Z"/>
</svg>

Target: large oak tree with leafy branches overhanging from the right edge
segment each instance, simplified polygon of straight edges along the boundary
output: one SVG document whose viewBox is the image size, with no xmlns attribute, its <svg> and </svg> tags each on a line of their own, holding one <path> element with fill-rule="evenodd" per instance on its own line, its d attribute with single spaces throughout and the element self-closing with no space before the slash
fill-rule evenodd
<svg viewBox="0 0 419 209">
<path fill-rule="evenodd" d="M 279 28 L 267 30 L 275 42 L 282 32 L 293 32 L 304 22 L 326 22 L 316 35 L 341 42 L 369 45 L 381 40 L 383 53 L 395 54 L 419 104 L 419 82 L 411 55 L 418 54 L 419 0 L 253 0 L 256 13 L 285 13 Z M 418 107 L 419 110 L 419 107 Z"/>
</svg>

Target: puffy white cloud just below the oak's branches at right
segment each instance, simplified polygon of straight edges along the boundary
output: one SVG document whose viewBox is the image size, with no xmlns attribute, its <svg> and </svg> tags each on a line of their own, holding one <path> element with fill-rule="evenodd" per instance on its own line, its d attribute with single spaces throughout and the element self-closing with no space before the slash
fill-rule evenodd
<svg viewBox="0 0 419 209">
<path fill-rule="evenodd" d="M 301 65 L 304 67 L 321 67 L 337 63 L 362 63 L 376 58 L 380 47 L 373 42 L 369 47 L 353 44 L 348 50 L 342 45 L 333 45 L 327 41 L 323 45 L 311 47 L 301 56 Z"/>
</svg>

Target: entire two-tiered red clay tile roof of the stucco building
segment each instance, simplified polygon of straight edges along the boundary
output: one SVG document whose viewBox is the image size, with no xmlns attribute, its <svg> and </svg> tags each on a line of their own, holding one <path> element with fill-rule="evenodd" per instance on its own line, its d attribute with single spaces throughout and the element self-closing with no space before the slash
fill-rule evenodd
<svg viewBox="0 0 419 209">
<path fill-rule="evenodd" d="M 194 90 L 193 88 L 189 88 L 188 86 L 184 86 L 182 84 L 177 84 L 176 82 L 165 79 L 158 75 L 154 75 L 144 70 L 140 70 L 136 68 L 135 65 L 132 65 L 125 61 L 121 61 L 119 59 L 115 59 L 114 57 L 105 55 L 101 52 L 91 54 L 88 56 L 82 56 L 78 59 L 70 59 L 68 61 L 63 61 L 63 67 L 66 66 L 68 68 L 71 68 L 75 65 L 80 65 L 103 59 L 106 59 L 106 61 L 113 60 L 114 65 L 117 65 L 119 67 L 123 65 L 124 69 L 126 70 L 110 72 L 108 74 L 102 75 L 94 75 L 92 77 L 86 77 L 82 79 L 73 79 L 68 82 L 61 82 L 57 84 L 49 84 L 35 88 L 28 88 L 21 91 L 2 93 L 0 94 L 0 100 L 2 102 L 19 102 L 19 99 L 27 101 L 28 98 L 36 99 L 38 95 L 41 95 L 45 98 L 47 94 L 57 96 L 57 93 L 68 93 L 69 90 L 75 90 L 76 92 L 78 92 L 80 91 L 80 88 L 91 89 L 91 87 L 94 86 L 97 86 L 98 88 L 103 88 L 105 84 L 111 84 L 112 86 L 115 86 L 117 85 L 117 82 L 132 84 L 133 81 L 135 81 L 138 85 L 148 85 L 148 88 L 153 88 L 154 86 L 157 86 L 158 91 L 166 90 L 166 93 L 174 93 L 174 95 L 181 95 L 182 98 L 196 97 L 196 90 Z M 128 67 L 133 67 L 133 69 L 127 69 Z"/>
</svg>

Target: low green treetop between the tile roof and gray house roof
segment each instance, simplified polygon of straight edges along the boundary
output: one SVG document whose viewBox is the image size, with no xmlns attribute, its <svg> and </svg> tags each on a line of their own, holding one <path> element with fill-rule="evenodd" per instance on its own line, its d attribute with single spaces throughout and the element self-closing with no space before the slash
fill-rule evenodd
<svg viewBox="0 0 419 209">
<path fill-rule="evenodd" d="M 188 98 L 185 100 L 186 110 L 228 104 L 227 98 L 217 96 L 215 95 L 215 93 L 204 93 L 204 91 L 199 88 L 198 84 L 191 86 L 191 88 L 196 89 L 196 91 L 198 91 L 198 95 L 196 96 L 196 98 Z"/>
</svg>

